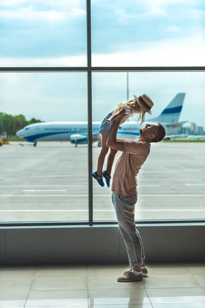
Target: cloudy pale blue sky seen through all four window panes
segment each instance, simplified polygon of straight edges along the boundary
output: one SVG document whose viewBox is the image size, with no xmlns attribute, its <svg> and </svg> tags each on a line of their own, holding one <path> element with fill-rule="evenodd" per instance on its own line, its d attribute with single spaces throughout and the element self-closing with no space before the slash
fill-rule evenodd
<svg viewBox="0 0 205 308">
<path fill-rule="evenodd" d="M 203 0 L 91 0 L 92 66 L 205 66 Z M 0 0 L 0 66 L 86 66 L 84 0 Z M 131 72 L 153 117 L 186 92 L 181 121 L 205 127 L 205 72 Z M 93 120 L 127 99 L 125 72 L 94 72 Z M 87 120 L 87 74 L 0 73 L 0 111 Z M 151 118 L 147 116 L 147 121 Z"/>
</svg>

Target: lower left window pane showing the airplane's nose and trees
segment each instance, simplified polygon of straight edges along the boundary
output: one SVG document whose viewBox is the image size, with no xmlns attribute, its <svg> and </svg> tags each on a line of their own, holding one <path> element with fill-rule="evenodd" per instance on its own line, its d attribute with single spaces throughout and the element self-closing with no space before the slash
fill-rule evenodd
<svg viewBox="0 0 205 308">
<path fill-rule="evenodd" d="M 2 222 L 88 220 L 87 129 L 86 73 L 0 74 Z"/>
</svg>

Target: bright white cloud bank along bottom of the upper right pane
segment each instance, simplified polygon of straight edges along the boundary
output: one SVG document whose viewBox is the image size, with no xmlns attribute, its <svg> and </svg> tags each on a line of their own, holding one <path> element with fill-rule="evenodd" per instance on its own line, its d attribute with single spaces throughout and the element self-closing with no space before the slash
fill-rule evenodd
<svg viewBox="0 0 205 308">
<path fill-rule="evenodd" d="M 93 66 L 203 66 L 203 35 L 147 43 L 122 44 L 119 52 L 93 54 Z M 131 50 L 131 51 L 130 51 Z"/>
</svg>

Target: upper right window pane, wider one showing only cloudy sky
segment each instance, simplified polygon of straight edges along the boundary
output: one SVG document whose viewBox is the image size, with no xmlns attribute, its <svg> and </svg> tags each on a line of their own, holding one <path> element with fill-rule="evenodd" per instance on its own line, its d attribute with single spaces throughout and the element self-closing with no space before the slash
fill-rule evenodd
<svg viewBox="0 0 205 308">
<path fill-rule="evenodd" d="M 93 66 L 204 66 L 204 3 L 96 1 Z"/>
</svg>

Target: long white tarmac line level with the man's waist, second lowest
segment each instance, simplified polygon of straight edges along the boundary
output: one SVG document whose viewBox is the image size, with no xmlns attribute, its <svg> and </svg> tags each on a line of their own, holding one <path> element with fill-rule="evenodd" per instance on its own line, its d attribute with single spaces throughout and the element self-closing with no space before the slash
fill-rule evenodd
<svg viewBox="0 0 205 308">
<path fill-rule="evenodd" d="M 0 197 L 88 197 L 88 195 L 0 195 Z M 111 195 L 93 195 L 111 197 Z M 205 195 L 138 195 L 138 197 L 205 197 Z"/>
</svg>

